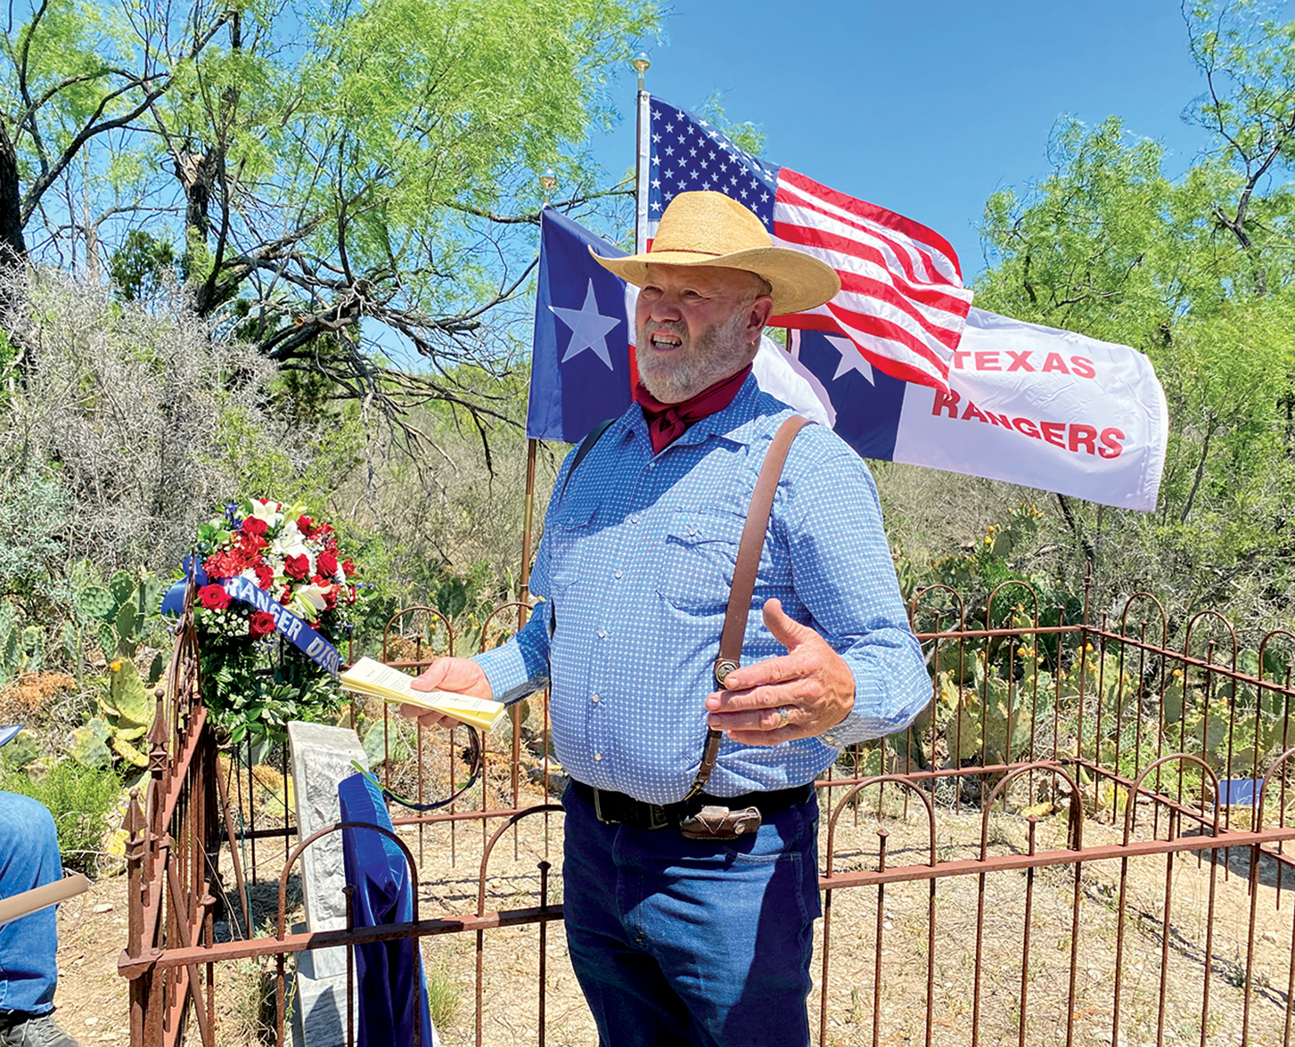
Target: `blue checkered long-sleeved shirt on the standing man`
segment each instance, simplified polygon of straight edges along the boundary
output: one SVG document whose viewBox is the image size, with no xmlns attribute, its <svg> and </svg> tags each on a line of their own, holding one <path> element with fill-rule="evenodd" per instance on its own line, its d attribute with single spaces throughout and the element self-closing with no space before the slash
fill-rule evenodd
<svg viewBox="0 0 1295 1047">
<path fill-rule="evenodd" d="M 565 493 L 571 456 L 563 462 L 531 575 L 544 602 L 513 639 L 477 661 L 501 701 L 552 687 L 553 745 L 572 778 L 654 804 L 688 792 L 742 524 L 769 443 L 790 414 L 749 377 L 728 408 L 660 454 L 632 404 Z M 783 466 L 745 665 L 786 654 L 760 615 L 772 597 L 850 665 L 855 711 L 844 740 L 901 730 L 930 700 L 873 479 L 822 426 L 800 431 Z M 842 738 L 773 747 L 725 738 L 706 791 L 737 796 L 812 782 L 837 757 L 833 742 Z"/>
</svg>

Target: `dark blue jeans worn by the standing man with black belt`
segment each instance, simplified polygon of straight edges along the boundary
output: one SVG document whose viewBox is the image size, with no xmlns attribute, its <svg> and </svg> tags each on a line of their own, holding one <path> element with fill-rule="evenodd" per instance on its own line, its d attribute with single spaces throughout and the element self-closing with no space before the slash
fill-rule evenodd
<svg viewBox="0 0 1295 1047">
<path fill-rule="evenodd" d="M 607 826 L 570 788 L 567 947 L 602 1047 L 796 1047 L 818 903 L 818 806 L 747 839 Z"/>
</svg>

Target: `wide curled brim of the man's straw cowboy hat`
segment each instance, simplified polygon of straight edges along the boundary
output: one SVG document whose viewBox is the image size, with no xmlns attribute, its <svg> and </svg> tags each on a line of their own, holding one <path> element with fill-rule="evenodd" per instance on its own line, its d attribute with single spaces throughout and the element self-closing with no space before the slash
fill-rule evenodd
<svg viewBox="0 0 1295 1047">
<path fill-rule="evenodd" d="M 763 277 L 773 289 L 773 312 L 783 316 L 813 309 L 835 296 L 840 278 L 826 263 L 790 247 L 751 247 L 728 255 L 703 251 L 649 251 L 624 258 L 603 258 L 589 248 L 603 269 L 642 287 L 649 265 L 714 265 L 720 269 L 743 269 Z"/>
</svg>

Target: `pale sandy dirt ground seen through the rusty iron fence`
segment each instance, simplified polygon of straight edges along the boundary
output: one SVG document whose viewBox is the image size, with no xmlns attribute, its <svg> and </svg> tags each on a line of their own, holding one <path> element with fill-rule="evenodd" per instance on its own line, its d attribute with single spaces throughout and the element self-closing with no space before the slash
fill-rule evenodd
<svg viewBox="0 0 1295 1047">
<path fill-rule="evenodd" d="M 541 802 L 543 792 L 530 789 L 524 801 Z M 918 817 L 913 805 L 905 814 L 891 801 L 884 810 L 881 822 L 875 811 L 861 811 L 857 826 L 853 809 L 843 813 L 834 848 L 837 871 L 877 867 L 879 826 L 888 833 L 887 867 L 929 861 L 932 840 L 925 809 Z M 552 865 L 549 898 L 562 901 L 557 875 L 561 823 L 561 814 L 531 815 L 499 841 L 490 859 L 486 910 L 537 905 L 539 866 L 545 861 Z M 939 810 L 934 840 L 936 861 L 975 857 L 980 830 L 978 813 Z M 483 852 L 480 827 L 460 823 L 453 828 L 440 824 L 421 832 L 416 827 L 401 831 L 420 862 L 421 915 L 474 912 Z M 1040 850 L 1064 845 L 1064 824 L 1059 815 L 1042 818 L 1036 832 Z M 1088 845 L 1119 839 L 1115 828 L 1092 821 L 1085 823 L 1084 832 Z M 824 846 L 826 836 L 825 819 Z M 1023 818 L 991 818 L 991 854 L 1027 850 Z M 1066 1043 L 1068 1038 L 1075 1044 L 1118 1042 L 1142 1047 L 1159 1041 L 1235 1047 L 1242 1042 L 1244 1020 L 1242 989 L 1251 899 L 1246 889 L 1248 855 L 1233 853 L 1230 858 L 1232 863 L 1226 865 L 1221 854 L 1213 863 L 1184 854 L 1175 858 L 1172 870 L 1164 855 L 1136 858 L 1128 862 L 1123 879 L 1118 861 L 1088 862 L 1079 868 L 1077 902 L 1075 866 L 1040 868 L 1032 881 L 1024 871 L 995 872 L 983 881 L 975 875 L 939 879 L 934 881 L 934 902 L 931 881 L 891 884 L 884 892 L 838 889 L 830 898 L 830 963 L 825 980 L 820 964 L 826 921 L 820 920 L 817 925 L 816 986 L 809 999 L 815 1039 L 817 1042 L 825 981 L 828 1035 L 824 1047 L 873 1043 L 874 997 L 879 1003 L 877 1043 L 925 1043 L 930 975 L 934 1044 L 970 1043 L 973 1024 L 979 1029 L 980 1043 L 1015 1044 L 1022 1042 L 1023 1013 L 1023 1042 L 1027 1044 Z M 258 852 L 259 879 L 276 880 L 281 861 L 281 845 L 263 844 Z M 1172 892 L 1166 941 L 1167 881 Z M 1247 1042 L 1268 1047 L 1282 1043 L 1286 1033 L 1295 877 L 1287 874 L 1279 902 L 1276 867 L 1261 866 L 1260 881 L 1255 949 L 1248 958 L 1255 991 Z M 1114 1028 L 1121 884 L 1127 905 L 1120 949 L 1119 1025 Z M 1031 906 L 1028 953 L 1024 937 L 1027 890 Z M 269 883 L 255 892 L 260 909 L 258 920 L 273 918 L 272 898 Z M 126 982 L 117 975 L 117 958 L 126 937 L 124 902 L 124 879 L 111 877 L 100 880 L 89 894 L 63 905 L 60 911 L 57 1017 L 84 1044 L 128 1042 Z M 935 950 L 929 968 L 932 905 Z M 979 938 L 978 927 L 982 928 Z M 552 1047 L 594 1044 L 597 1038 L 566 956 L 562 924 L 548 924 L 544 934 L 545 1042 Z M 518 1047 L 539 1041 L 540 936 L 534 925 L 483 936 L 479 959 L 484 1044 Z M 442 1000 L 438 1024 L 443 1043 L 445 1047 L 474 1043 L 475 936 L 426 938 L 422 951 L 429 981 Z M 878 953 L 879 987 L 875 984 Z M 1204 1006 L 1207 985 L 1208 1008 Z M 267 991 L 273 991 L 273 982 L 264 964 L 247 962 L 219 968 L 219 1043 L 251 1043 L 256 1038 L 256 1003 Z M 188 1042 L 198 1042 L 196 1029 L 190 1030 Z"/>
</svg>

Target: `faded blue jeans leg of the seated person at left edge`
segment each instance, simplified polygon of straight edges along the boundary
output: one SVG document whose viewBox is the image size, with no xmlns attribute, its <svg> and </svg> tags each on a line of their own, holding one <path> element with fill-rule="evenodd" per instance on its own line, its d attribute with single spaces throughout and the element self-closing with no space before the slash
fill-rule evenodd
<svg viewBox="0 0 1295 1047">
<path fill-rule="evenodd" d="M 53 815 L 30 796 L 0 792 L 0 898 L 62 875 Z M 53 906 L 0 927 L 0 1012 L 45 1015 L 54 1009 L 57 950 Z"/>
</svg>

